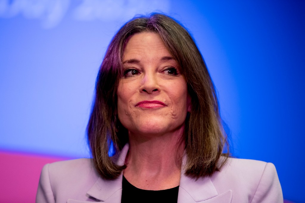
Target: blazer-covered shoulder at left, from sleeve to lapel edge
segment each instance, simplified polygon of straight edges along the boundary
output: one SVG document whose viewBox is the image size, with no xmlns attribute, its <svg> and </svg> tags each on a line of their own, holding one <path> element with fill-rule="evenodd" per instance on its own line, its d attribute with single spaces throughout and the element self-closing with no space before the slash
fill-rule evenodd
<svg viewBox="0 0 305 203">
<path fill-rule="evenodd" d="M 36 202 L 87 200 L 86 192 L 99 179 L 90 158 L 46 164 L 38 185 Z"/>
</svg>

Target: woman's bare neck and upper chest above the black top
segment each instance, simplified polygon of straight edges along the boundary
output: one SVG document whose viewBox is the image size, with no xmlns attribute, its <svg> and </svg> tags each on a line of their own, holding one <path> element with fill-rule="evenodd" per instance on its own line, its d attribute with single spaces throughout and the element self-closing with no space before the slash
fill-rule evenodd
<svg viewBox="0 0 305 203">
<path fill-rule="evenodd" d="M 125 178 L 135 187 L 164 190 L 179 185 L 185 143 L 184 126 L 162 135 L 129 132 Z"/>
</svg>

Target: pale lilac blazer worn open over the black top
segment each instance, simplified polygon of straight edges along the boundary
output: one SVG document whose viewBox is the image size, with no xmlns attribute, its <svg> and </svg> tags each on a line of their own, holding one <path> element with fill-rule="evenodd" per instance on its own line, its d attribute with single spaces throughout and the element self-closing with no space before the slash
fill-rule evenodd
<svg viewBox="0 0 305 203">
<path fill-rule="evenodd" d="M 123 148 L 118 164 L 124 164 L 127 151 L 128 144 Z M 91 159 L 81 158 L 45 165 L 36 202 L 110 203 L 120 202 L 121 195 L 122 175 L 115 180 L 104 180 L 96 173 Z M 281 203 L 283 195 L 272 163 L 230 158 L 221 171 L 197 181 L 181 171 L 178 203 L 188 202 Z"/>
</svg>

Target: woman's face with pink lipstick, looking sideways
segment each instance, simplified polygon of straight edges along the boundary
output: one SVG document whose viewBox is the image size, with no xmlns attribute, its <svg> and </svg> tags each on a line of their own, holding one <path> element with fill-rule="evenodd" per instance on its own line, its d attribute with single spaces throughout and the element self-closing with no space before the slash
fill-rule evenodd
<svg viewBox="0 0 305 203">
<path fill-rule="evenodd" d="M 178 63 L 157 33 L 129 38 L 124 77 L 117 89 L 118 117 L 129 133 L 164 134 L 184 126 L 190 97 Z"/>
</svg>

